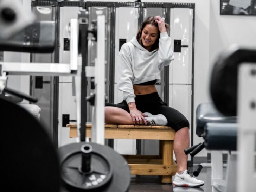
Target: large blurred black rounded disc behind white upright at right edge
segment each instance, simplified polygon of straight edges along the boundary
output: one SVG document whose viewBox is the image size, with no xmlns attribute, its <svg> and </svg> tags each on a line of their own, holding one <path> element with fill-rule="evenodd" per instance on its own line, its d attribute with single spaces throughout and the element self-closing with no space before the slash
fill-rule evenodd
<svg viewBox="0 0 256 192">
<path fill-rule="evenodd" d="M 256 62 L 256 50 L 231 46 L 222 52 L 213 66 L 210 92 L 216 108 L 226 116 L 237 115 L 238 66 Z"/>
</svg>

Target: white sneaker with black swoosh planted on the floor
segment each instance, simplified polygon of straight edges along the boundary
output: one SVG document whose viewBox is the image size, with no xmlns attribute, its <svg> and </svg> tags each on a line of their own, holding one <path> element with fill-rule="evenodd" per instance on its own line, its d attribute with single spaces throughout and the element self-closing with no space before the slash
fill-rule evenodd
<svg viewBox="0 0 256 192">
<path fill-rule="evenodd" d="M 191 175 L 187 170 L 185 170 L 183 174 L 175 174 L 175 178 L 172 184 L 184 187 L 200 187 L 204 185 L 204 181 L 200 181 L 194 178 L 193 175 Z"/>
</svg>

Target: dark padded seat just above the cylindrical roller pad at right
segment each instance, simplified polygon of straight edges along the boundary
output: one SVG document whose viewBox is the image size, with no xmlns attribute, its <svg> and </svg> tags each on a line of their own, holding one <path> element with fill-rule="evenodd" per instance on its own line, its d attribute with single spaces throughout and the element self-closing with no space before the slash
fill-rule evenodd
<svg viewBox="0 0 256 192">
<path fill-rule="evenodd" d="M 227 117 L 221 114 L 213 105 L 213 103 L 201 103 L 196 111 L 196 134 L 201 137 L 204 133 L 204 127 L 207 123 L 236 123 L 237 117 Z"/>
</svg>

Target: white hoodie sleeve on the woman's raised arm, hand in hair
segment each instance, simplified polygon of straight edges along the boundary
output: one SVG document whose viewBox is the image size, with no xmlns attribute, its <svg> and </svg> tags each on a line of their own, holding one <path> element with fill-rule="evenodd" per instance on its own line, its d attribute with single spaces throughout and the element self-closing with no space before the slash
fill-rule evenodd
<svg viewBox="0 0 256 192">
<path fill-rule="evenodd" d="M 172 40 L 168 36 L 168 33 L 160 33 L 159 39 L 159 49 L 158 49 L 158 62 L 160 71 L 164 69 L 165 66 L 169 65 L 172 60 L 174 60 Z"/>
</svg>

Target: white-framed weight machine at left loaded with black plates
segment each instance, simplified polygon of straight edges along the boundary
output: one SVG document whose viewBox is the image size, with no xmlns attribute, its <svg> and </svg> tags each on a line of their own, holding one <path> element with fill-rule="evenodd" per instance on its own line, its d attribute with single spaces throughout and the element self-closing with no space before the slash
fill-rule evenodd
<svg viewBox="0 0 256 192">
<path fill-rule="evenodd" d="M 42 26 L 41 24 L 43 23 L 36 26 Z M 51 22 L 45 26 L 55 27 Z M 34 29 L 36 30 L 36 27 Z M 88 68 L 86 50 L 89 32 L 95 36 L 97 34 L 98 44 L 104 45 L 105 17 L 98 15 L 97 30 L 96 27 L 94 30 L 89 30 L 88 12 L 79 11 L 78 19 L 71 19 L 70 22 L 69 64 L 0 62 L 1 91 L 8 90 L 5 87 L 8 74 L 73 76 L 76 84 L 78 133 L 80 133 L 77 143 L 60 147 L 57 152 L 44 126 L 38 120 L 18 105 L 1 99 L 0 114 L 4 128 L 1 139 L 4 168 L 1 173 L 4 176 L 3 187 L 8 188 L 9 191 L 128 191 L 130 170 L 126 160 L 110 147 L 104 146 L 105 79 L 101 74 L 104 74 L 105 56 L 102 53 L 105 46 L 98 46 L 95 69 Z M 26 37 L 26 34 L 27 32 L 21 33 L 21 36 Z M 54 30 L 50 34 L 54 34 Z M 40 35 L 40 37 L 44 36 Z M 44 44 L 45 40 L 43 38 L 38 43 L 38 47 L 42 46 L 41 49 L 45 52 L 52 51 L 44 49 L 44 45 L 45 48 L 47 47 Z M 31 51 L 30 44 L 26 47 L 17 42 L 17 38 L 9 40 L 9 43 L 15 44 L 15 51 Z M 11 50 L 8 41 L 1 40 L 1 43 L 5 45 L 5 50 Z M 37 47 L 36 44 L 32 43 L 32 45 Z M 82 55 L 82 65 L 78 64 L 79 54 Z M 91 97 L 86 97 L 85 80 L 88 75 L 95 76 L 96 89 Z M 10 93 L 15 95 L 14 91 Z M 36 101 L 22 93 L 16 95 L 32 102 Z M 95 143 L 85 142 L 86 100 L 90 100 L 95 105 L 92 127 L 92 141 Z"/>
</svg>

